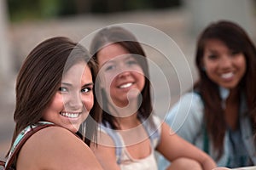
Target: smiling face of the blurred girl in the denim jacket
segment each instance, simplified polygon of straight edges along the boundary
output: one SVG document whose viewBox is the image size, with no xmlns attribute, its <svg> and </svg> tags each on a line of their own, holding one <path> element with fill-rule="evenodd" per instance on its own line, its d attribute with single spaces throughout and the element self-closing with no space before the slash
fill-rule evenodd
<svg viewBox="0 0 256 170">
<path fill-rule="evenodd" d="M 224 88 L 236 88 L 246 72 L 246 58 L 217 39 L 208 40 L 202 66 L 212 82 Z"/>
</svg>

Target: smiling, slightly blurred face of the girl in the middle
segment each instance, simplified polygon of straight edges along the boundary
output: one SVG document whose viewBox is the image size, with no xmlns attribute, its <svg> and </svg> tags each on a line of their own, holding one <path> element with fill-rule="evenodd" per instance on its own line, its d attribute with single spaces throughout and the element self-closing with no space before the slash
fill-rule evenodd
<svg viewBox="0 0 256 170">
<path fill-rule="evenodd" d="M 113 103 L 125 107 L 129 100 L 137 102 L 138 94 L 145 85 L 145 77 L 135 56 L 131 56 L 119 43 L 113 43 L 98 52 L 97 60 L 103 77 L 102 88 Z"/>
</svg>

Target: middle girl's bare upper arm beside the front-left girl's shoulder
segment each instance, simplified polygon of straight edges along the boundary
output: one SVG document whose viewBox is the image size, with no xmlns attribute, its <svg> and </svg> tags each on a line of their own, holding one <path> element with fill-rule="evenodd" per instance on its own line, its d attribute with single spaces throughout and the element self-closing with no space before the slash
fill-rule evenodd
<svg viewBox="0 0 256 170">
<path fill-rule="evenodd" d="M 113 139 L 108 134 L 99 132 L 97 142 L 98 144 L 90 144 L 90 149 L 94 152 L 102 167 L 106 170 L 120 170 L 116 161 Z"/>
</svg>

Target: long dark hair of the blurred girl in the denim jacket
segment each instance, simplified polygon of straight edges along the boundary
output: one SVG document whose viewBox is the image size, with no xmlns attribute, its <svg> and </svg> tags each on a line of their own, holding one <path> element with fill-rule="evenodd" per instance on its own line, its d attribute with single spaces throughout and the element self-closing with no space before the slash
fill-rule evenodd
<svg viewBox="0 0 256 170">
<path fill-rule="evenodd" d="M 246 96 L 247 109 L 251 117 L 253 114 L 255 115 L 253 112 L 255 112 L 256 106 L 253 105 L 256 99 L 256 49 L 252 40 L 247 36 L 246 31 L 244 31 L 241 26 L 226 20 L 221 20 L 207 26 L 207 28 L 202 31 L 197 42 L 195 62 L 200 79 L 196 82 L 195 89 L 199 90 L 204 102 L 207 132 L 213 141 L 214 148 L 218 150 L 218 156 L 221 156 L 224 151 L 223 143 L 226 129 L 224 110 L 221 106 L 218 84 L 212 82 L 212 80 L 207 77 L 202 67 L 205 45 L 206 42 L 211 39 L 218 39 L 224 42 L 231 50 L 244 54 L 247 70 L 241 82 L 239 82 L 238 87 L 240 93 L 244 93 Z"/>
</svg>

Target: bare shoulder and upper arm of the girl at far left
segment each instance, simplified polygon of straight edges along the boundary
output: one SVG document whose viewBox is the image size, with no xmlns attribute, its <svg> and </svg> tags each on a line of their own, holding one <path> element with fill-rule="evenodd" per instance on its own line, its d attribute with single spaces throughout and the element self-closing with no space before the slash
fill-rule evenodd
<svg viewBox="0 0 256 170">
<path fill-rule="evenodd" d="M 62 127 L 47 127 L 26 141 L 18 157 L 19 169 L 102 169 L 84 142 Z"/>
</svg>

